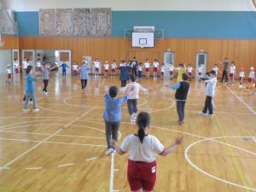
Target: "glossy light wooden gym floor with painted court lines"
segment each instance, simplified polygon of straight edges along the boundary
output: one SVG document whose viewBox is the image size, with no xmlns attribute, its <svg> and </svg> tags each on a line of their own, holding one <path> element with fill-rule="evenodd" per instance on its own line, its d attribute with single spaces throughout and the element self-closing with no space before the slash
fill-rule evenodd
<svg viewBox="0 0 256 192">
<path fill-rule="evenodd" d="M 54 75 L 49 96 L 41 93 L 39 113 L 22 113 L 23 84 L 9 89 L 0 84 L 0 191 L 1 192 L 107 192 L 130 191 L 126 180 L 127 155 L 105 156 L 103 96 L 119 79 L 89 80 L 81 93 L 79 77 Z M 169 83 L 168 79 L 165 83 Z M 192 83 L 185 124 L 177 125 L 174 91 L 162 80 L 143 79 L 154 88 L 141 94 L 139 110 L 151 113 L 150 133 L 165 145 L 175 137 L 185 141 L 174 154 L 158 157 L 157 192 L 256 191 L 256 96 L 218 83 L 215 116 L 197 114 L 203 107 L 205 84 Z M 32 107 L 30 107 L 32 108 Z M 66 128 L 66 129 L 63 129 Z M 123 107 L 122 142 L 136 131 Z"/>
</svg>

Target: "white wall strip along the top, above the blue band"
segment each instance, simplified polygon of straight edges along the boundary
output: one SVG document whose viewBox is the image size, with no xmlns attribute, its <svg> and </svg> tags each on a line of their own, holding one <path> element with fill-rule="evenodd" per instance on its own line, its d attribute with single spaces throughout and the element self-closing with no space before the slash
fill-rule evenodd
<svg viewBox="0 0 256 192">
<path fill-rule="evenodd" d="M 49 8 L 112 8 L 113 10 L 255 10 L 252 0 L 6 0 L 15 11 Z"/>
</svg>

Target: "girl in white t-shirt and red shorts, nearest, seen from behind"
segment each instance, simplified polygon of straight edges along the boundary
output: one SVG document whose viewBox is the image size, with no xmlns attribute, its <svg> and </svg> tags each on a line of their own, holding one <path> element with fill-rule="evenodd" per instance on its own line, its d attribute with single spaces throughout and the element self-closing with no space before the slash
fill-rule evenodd
<svg viewBox="0 0 256 192">
<path fill-rule="evenodd" d="M 153 192 L 158 167 L 155 161 L 156 154 L 166 156 L 183 143 L 183 137 L 179 137 L 170 147 L 165 148 L 156 137 L 148 134 L 149 125 L 150 115 L 145 112 L 139 113 L 137 132 L 125 137 L 120 148 L 116 141 L 112 141 L 113 148 L 118 154 L 129 153 L 127 180 L 131 191 L 134 192 Z"/>
</svg>

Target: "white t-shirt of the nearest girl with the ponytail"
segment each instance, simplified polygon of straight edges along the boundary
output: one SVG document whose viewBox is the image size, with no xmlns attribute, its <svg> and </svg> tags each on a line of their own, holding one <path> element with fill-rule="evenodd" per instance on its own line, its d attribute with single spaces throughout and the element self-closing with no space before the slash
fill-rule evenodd
<svg viewBox="0 0 256 192">
<path fill-rule="evenodd" d="M 129 160 L 151 163 L 155 160 L 155 154 L 163 153 L 165 147 L 154 136 L 145 136 L 141 143 L 139 137 L 130 135 L 125 138 L 120 149 L 129 152 Z"/>
</svg>

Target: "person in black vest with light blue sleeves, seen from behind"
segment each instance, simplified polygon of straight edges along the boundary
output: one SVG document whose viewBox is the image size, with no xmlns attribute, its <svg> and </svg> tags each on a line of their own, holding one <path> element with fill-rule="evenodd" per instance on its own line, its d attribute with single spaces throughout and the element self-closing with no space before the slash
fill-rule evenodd
<svg viewBox="0 0 256 192">
<path fill-rule="evenodd" d="M 186 104 L 187 96 L 189 92 L 188 79 L 189 79 L 188 75 L 186 73 L 183 73 L 182 81 L 177 82 L 177 84 L 173 84 L 169 86 L 172 90 L 176 90 L 175 99 L 176 99 L 176 105 L 177 105 L 178 125 L 182 125 L 184 123 L 184 118 L 185 118 L 184 108 L 185 108 L 185 104 Z"/>
</svg>

